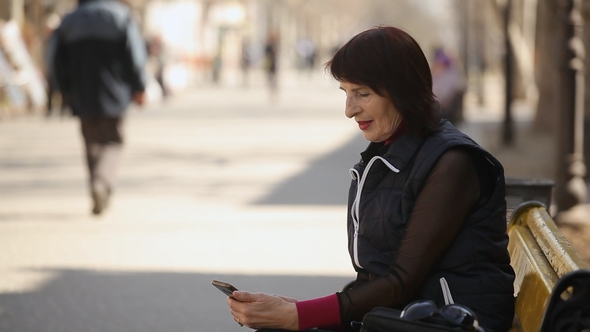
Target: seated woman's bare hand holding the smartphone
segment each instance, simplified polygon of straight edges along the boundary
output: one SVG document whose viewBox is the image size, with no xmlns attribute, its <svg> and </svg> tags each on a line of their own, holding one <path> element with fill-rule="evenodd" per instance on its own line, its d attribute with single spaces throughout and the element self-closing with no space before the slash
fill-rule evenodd
<svg viewBox="0 0 590 332">
<path fill-rule="evenodd" d="M 234 320 L 253 329 L 298 330 L 295 302 L 292 298 L 242 291 L 235 291 L 227 298 Z"/>
</svg>

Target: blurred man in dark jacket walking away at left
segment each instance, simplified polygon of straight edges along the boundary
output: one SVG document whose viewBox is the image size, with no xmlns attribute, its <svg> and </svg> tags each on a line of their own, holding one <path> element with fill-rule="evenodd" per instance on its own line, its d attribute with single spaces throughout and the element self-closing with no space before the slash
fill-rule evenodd
<svg viewBox="0 0 590 332">
<path fill-rule="evenodd" d="M 145 100 L 146 46 L 131 9 L 118 0 L 79 0 L 56 30 L 54 73 L 80 118 L 93 214 L 107 207 L 129 104 Z"/>
</svg>

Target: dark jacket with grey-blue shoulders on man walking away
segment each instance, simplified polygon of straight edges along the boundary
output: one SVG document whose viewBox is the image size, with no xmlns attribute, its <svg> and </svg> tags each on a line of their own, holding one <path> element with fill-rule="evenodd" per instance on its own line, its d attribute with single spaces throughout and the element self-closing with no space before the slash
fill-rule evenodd
<svg viewBox="0 0 590 332">
<path fill-rule="evenodd" d="M 80 0 L 56 30 L 53 70 L 74 114 L 121 117 L 145 90 L 145 42 L 129 7 Z"/>
</svg>

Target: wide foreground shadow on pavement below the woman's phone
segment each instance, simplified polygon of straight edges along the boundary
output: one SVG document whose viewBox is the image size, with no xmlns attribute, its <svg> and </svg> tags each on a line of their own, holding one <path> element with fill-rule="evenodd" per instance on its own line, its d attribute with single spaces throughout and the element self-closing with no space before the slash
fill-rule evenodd
<svg viewBox="0 0 590 332">
<path fill-rule="evenodd" d="M 38 289 L 0 294 L 0 331 L 245 331 L 212 279 L 297 299 L 339 291 L 345 277 L 33 270 L 54 275 Z"/>
</svg>

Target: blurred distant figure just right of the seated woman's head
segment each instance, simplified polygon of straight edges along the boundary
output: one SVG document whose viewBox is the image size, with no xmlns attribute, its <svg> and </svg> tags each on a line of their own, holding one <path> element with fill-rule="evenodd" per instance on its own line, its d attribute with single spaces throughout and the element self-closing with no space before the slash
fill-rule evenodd
<svg viewBox="0 0 590 332">
<path fill-rule="evenodd" d="M 442 117 L 457 126 L 463 120 L 465 94 L 463 67 L 442 48 L 434 52 L 432 92 L 440 103 Z"/>
</svg>

